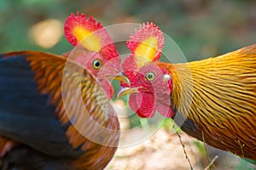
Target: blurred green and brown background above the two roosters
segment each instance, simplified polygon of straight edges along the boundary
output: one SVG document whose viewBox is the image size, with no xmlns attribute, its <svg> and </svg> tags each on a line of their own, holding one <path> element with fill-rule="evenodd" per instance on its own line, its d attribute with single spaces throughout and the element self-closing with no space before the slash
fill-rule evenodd
<svg viewBox="0 0 256 170">
<path fill-rule="evenodd" d="M 254 0 L 0 0 L 0 53 L 28 49 L 62 54 L 71 50 L 63 25 L 78 10 L 92 14 L 102 26 L 153 21 L 189 61 L 256 42 Z M 140 122 L 131 118 L 131 127 L 133 123 L 136 127 Z"/>
</svg>

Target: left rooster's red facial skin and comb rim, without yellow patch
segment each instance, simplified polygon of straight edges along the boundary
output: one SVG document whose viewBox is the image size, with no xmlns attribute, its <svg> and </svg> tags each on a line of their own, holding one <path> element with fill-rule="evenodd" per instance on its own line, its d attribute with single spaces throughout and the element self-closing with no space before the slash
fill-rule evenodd
<svg viewBox="0 0 256 170">
<path fill-rule="evenodd" d="M 96 37 L 99 37 L 102 48 L 96 52 L 84 48 L 73 33 L 77 26 L 83 27 L 85 31 L 91 31 Z M 86 18 L 84 14 L 79 15 L 77 13 L 77 15 L 71 14 L 67 17 L 65 37 L 76 48 L 63 55 L 80 65 L 84 65 L 84 69 L 90 71 L 99 80 L 102 88 L 111 99 L 113 97 L 113 87 L 108 81 L 108 76 L 115 75 L 120 71 L 120 58 L 108 31 L 102 27 L 100 22 L 96 23 L 92 16 Z M 94 61 L 99 61 L 101 66 L 96 68 Z"/>
</svg>

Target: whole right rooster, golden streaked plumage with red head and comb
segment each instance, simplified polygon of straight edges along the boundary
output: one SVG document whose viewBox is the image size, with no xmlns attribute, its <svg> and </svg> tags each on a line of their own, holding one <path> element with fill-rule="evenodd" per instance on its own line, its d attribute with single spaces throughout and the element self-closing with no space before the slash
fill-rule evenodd
<svg viewBox="0 0 256 170">
<path fill-rule="evenodd" d="M 150 28 L 152 26 L 148 30 Z M 171 64 L 158 61 L 158 54 L 152 56 L 155 42 L 154 39 L 149 41 L 148 37 L 148 31 L 141 29 L 127 42 L 132 54 L 125 59 L 123 70 L 129 69 L 133 63 L 137 66 L 135 73 L 131 74 L 130 69 L 127 74 L 131 85 L 121 84 L 133 92 L 129 99 L 131 110 L 138 116 L 152 117 L 155 111 L 166 112 L 171 108 L 175 113 L 166 114 L 166 117 L 171 115 L 190 136 L 220 150 L 256 160 L 256 44 L 215 58 Z M 145 46 L 143 42 L 148 41 Z M 172 86 L 169 86 L 172 94 L 154 95 L 156 91 L 166 92 L 161 86 L 167 83 L 158 82 L 162 79 L 152 82 L 156 87 L 150 91 L 145 76 L 154 71 L 150 67 L 154 63 L 172 77 Z M 144 74 L 142 70 L 148 65 Z M 139 92 L 132 89 L 139 89 Z"/>
</svg>

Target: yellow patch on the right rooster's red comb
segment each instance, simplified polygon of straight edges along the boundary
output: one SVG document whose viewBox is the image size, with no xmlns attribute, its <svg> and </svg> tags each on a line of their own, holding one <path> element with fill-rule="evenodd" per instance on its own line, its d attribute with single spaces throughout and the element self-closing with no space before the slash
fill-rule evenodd
<svg viewBox="0 0 256 170">
<path fill-rule="evenodd" d="M 155 37 L 148 37 L 135 50 L 137 65 L 142 67 L 148 61 L 152 61 L 157 53 L 158 41 Z"/>
</svg>

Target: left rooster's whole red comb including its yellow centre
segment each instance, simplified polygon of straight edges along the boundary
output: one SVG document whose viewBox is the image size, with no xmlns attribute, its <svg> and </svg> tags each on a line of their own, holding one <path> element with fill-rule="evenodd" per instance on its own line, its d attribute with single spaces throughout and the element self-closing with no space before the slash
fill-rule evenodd
<svg viewBox="0 0 256 170">
<path fill-rule="evenodd" d="M 81 31 L 79 36 L 75 34 L 77 28 Z M 108 31 L 102 27 L 100 22 L 96 23 L 91 15 L 86 19 L 85 14 L 79 15 L 79 12 L 77 15 L 70 14 L 65 23 L 65 37 L 73 46 L 81 45 L 90 51 L 101 53 L 107 59 L 119 56 Z M 90 42 L 86 42 L 86 37 L 91 37 L 87 40 Z M 84 45 L 84 39 L 88 45 Z"/>
</svg>

